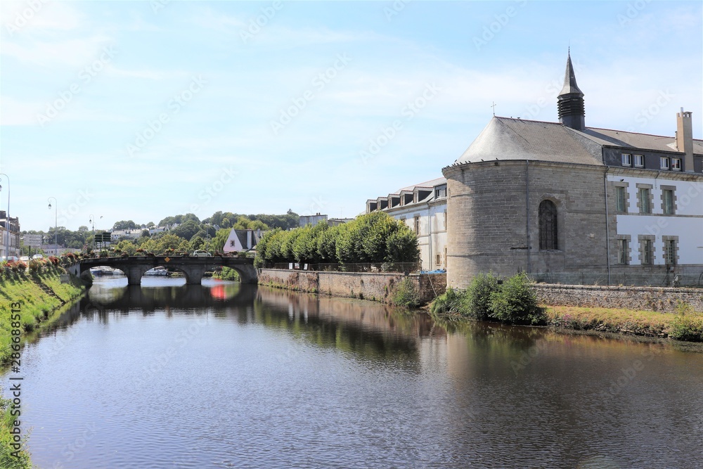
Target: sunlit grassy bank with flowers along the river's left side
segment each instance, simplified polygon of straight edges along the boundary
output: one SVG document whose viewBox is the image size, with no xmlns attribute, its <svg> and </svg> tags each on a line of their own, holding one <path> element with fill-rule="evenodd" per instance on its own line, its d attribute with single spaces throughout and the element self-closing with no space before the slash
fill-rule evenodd
<svg viewBox="0 0 703 469">
<path fill-rule="evenodd" d="M 34 264 L 31 273 L 23 267 L 0 266 L 0 366 L 10 365 L 13 353 L 17 359 L 24 335 L 41 326 L 52 311 L 84 295 L 81 281 L 72 277 L 69 283 L 61 283 L 61 274 L 66 271 L 52 262 Z M 13 342 L 13 337 L 19 340 Z M 21 369 L 21 359 L 19 363 Z M 11 400 L 0 399 L 0 468 L 31 468 L 26 434 L 18 442 L 19 435 L 12 433 L 15 420 L 22 422 L 13 407 Z"/>
</svg>

